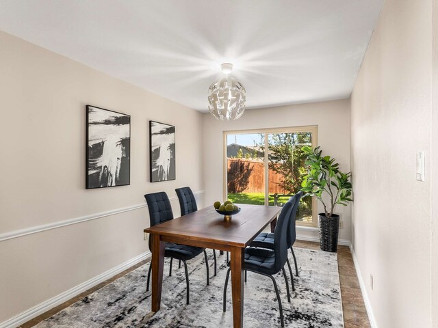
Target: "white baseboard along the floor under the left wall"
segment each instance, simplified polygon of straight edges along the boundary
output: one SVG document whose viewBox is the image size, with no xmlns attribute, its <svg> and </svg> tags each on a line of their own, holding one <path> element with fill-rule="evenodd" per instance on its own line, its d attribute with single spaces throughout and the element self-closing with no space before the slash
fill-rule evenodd
<svg viewBox="0 0 438 328">
<path fill-rule="evenodd" d="M 93 277 L 92 279 L 89 279 L 86 282 L 83 282 L 82 284 L 79 284 L 69 290 L 66 290 L 65 292 L 62 292 L 60 295 L 52 297 L 47 301 L 35 305 L 33 308 L 30 308 L 29 310 L 17 314 L 16 316 L 4 321 L 3 323 L 0 323 L 0 328 L 18 327 L 19 325 L 26 323 L 27 321 L 35 318 L 36 316 L 39 316 L 40 314 L 47 312 L 52 308 L 55 308 L 55 306 L 60 305 L 65 301 L 68 301 L 69 299 L 72 299 L 76 295 L 79 295 L 81 292 L 85 292 L 86 290 L 96 286 L 97 284 L 104 282 L 106 279 L 109 279 L 110 277 L 114 277 L 114 275 L 117 275 L 118 273 L 125 271 L 126 269 L 129 269 L 130 267 L 137 264 L 138 262 L 142 262 L 142 260 L 146 260 L 148 258 L 151 258 L 150 251 L 146 251 L 143 254 L 136 256 L 135 258 L 131 258 L 131 260 L 128 260 L 127 262 L 122 263 L 117 267 L 114 267 L 113 269 L 105 271 L 104 273 L 101 273 L 100 275 L 97 275 L 96 277 Z"/>
</svg>

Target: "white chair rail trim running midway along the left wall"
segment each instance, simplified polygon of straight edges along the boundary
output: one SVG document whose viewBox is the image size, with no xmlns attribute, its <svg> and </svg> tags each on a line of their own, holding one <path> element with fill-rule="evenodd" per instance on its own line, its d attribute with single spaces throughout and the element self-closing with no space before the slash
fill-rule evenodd
<svg viewBox="0 0 438 328">
<path fill-rule="evenodd" d="M 204 193 L 204 191 L 201 190 L 201 191 L 194 192 L 195 195 L 199 195 L 201 193 Z M 178 197 L 170 197 L 169 200 L 172 202 L 174 200 L 178 200 Z M 131 206 L 123 207 L 123 208 L 116 208 L 114 210 L 107 210 L 106 212 L 95 213 L 95 214 L 86 215 L 83 217 L 76 217 L 75 219 L 68 219 L 68 220 L 64 220 L 64 221 L 43 224 L 42 226 L 34 226 L 34 227 L 25 228 L 25 229 L 21 229 L 21 230 L 14 230 L 11 232 L 5 232 L 3 234 L 0 234 L 0 242 L 1 241 L 8 241 L 9 239 L 12 239 L 12 238 L 27 236 L 29 234 L 36 234 L 38 232 L 62 228 L 65 226 L 70 226 L 72 224 L 91 221 L 91 220 L 95 220 L 95 219 L 101 219 L 102 217 L 109 217 L 110 215 L 116 215 L 116 214 L 120 214 L 120 213 L 124 213 L 124 212 L 129 212 L 130 210 L 137 210 L 138 208 L 144 208 L 144 207 L 147 207 L 146 203 L 145 204 L 135 204 L 135 205 L 131 205 Z"/>
</svg>

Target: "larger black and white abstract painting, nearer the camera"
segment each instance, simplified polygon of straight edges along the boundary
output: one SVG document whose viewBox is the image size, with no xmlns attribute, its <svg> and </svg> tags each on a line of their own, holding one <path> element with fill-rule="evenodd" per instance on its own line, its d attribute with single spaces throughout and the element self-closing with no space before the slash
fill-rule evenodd
<svg viewBox="0 0 438 328">
<path fill-rule="evenodd" d="M 131 116 L 87 105 L 86 189 L 130 183 Z"/>
</svg>

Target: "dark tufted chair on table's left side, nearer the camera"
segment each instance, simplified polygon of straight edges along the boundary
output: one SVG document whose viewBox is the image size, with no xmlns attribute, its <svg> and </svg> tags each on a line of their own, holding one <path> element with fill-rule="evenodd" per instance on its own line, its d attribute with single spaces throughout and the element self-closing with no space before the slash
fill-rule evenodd
<svg viewBox="0 0 438 328">
<path fill-rule="evenodd" d="M 151 220 L 151 227 L 156 226 L 159 223 L 164 223 L 173 219 L 172 206 L 170 206 L 170 200 L 166 193 L 149 193 L 144 195 L 149 208 L 149 219 Z M 149 238 L 149 249 L 151 249 L 151 238 Z M 164 257 L 170 258 L 170 275 L 172 275 L 172 260 L 175 258 L 181 260 L 185 269 L 185 282 L 187 284 L 187 304 L 189 304 L 190 286 L 189 275 L 187 269 L 187 263 L 185 261 L 191 260 L 195 256 L 198 256 L 204 252 L 205 265 L 207 267 L 207 285 L 209 285 L 209 272 L 208 272 L 208 260 L 205 249 L 201 247 L 194 247 L 188 245 L 181 245 L 175 243 L 165 243 Z M 146 285 L 146 291 L 149 291 L 149 279 L 151 277 L 151 268 L 149 266 L 148 280 Z"/>
</svg>

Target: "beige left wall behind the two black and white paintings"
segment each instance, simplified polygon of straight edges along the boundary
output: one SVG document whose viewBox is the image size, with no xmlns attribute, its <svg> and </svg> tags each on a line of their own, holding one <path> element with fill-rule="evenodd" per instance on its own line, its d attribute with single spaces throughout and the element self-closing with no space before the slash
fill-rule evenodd
<svg viewBox="0 0 438 328">
<path fill-rule="evenodd" d="M 201 113 L 3 32 L 0 72 L 0 235 L 202 191 Z M 85 189 L 87 104 L 131 115 L 130 186 Z M 148 120 L 176 126 L 175 181 L 148 182 Z M 139 208 L 0 241 L 0 323 L 146 252 L 147 226 Z"/>
</svg>

